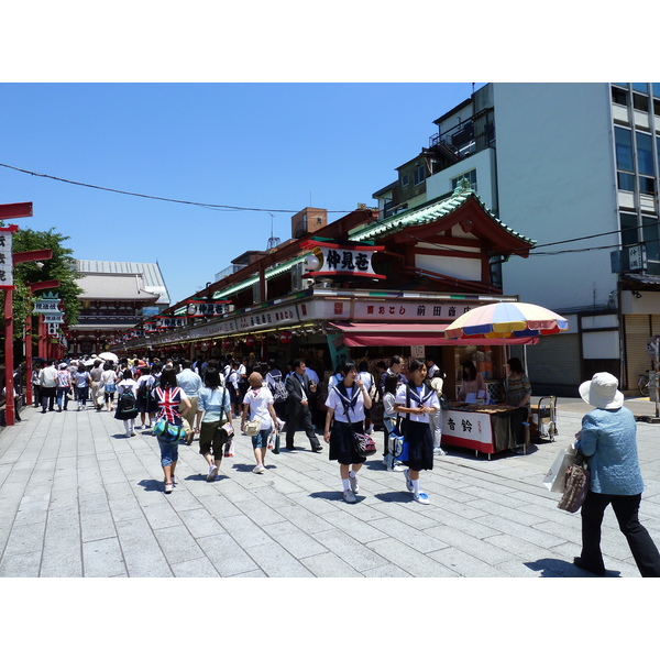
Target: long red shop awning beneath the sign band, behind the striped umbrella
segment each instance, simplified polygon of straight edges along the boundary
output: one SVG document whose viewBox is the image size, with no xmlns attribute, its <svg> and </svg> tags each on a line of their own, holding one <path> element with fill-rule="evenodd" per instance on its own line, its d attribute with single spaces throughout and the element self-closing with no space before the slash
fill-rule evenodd
<svg viewBox="0 0 660 660">
<path fill-rule="evenodd" d="M 355 323 L 336 321 L 328 323 L 344 333 L 346 346 L 406 346 L 406 345 L 502 345 L 502 339 L 444 339 L 449 323 Z M 538 337 L 507 339 L 506 345 L 535 344 Z"/>
</svg>

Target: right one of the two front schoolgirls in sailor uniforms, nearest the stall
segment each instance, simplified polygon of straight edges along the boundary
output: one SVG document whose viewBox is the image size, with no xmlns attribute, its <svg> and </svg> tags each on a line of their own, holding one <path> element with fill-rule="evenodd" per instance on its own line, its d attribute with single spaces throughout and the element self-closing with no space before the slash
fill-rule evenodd
<svg viewBox="0 0 660 660">
<path fill-rule="evenodd" d="M 394 409 L 404 418 L 403 430 L 408 442 L 408 465 L 405 471 L 406 486 L 415 502 L 429 504 L 429 497 L 419 490 L 419 472 L 433 469 L 433 436 L 429 415 L 440 409 L 436 391 L 426 383 L 427 367 L 419 360 L 410 362 L 411 381 L 399 386 Z"/>
</svg>

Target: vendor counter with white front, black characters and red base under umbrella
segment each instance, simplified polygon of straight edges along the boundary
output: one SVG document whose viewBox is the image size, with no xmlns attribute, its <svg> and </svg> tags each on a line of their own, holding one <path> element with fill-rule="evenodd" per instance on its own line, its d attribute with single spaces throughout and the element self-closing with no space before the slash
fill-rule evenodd
<svg viewBox="0 0 660 660">
<path fill-rule="evenodd" d="M 450 403 L 442 410 L 442 444 L 488 454 L 525 443 L 527 408 Z"/>
</svg>

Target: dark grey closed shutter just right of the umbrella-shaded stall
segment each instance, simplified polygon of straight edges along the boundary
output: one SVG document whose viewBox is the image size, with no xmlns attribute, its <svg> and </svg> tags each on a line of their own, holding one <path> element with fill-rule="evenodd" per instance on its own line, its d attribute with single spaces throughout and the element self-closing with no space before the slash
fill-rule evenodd
<svg viewBox="0 0 660 660">
<path fill-rule="evenodd" d="M 551 334 L 527 346 L 527 375 L 532 384 L 580 385 L 580 336 Z"/>
</svg>

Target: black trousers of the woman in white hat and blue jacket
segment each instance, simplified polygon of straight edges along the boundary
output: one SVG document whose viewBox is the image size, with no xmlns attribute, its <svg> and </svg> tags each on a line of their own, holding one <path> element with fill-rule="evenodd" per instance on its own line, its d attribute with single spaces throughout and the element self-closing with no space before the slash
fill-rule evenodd
<svg viewBox="0 0 660 660">
<path fill-rule="evenodd" d="M 582 505 L 582 561 L 595 571 L 605 570 L 601 553 L 601 525 L 609 504 L 642 578 L 660 578 L 660 553 L 639 521 L 639 495 L 605 495 L 590 491 Z"/>
</svg>

